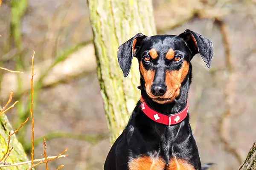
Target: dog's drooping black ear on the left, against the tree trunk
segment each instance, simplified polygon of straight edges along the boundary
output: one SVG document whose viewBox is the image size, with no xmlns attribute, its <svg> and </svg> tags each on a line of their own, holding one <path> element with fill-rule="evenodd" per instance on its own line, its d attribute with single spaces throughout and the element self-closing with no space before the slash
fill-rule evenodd
<svg viewBox="0 0 256 170">
<path fill-rule="evenodd" d="M 124 73 L 124 77 L 128 76 L 131 70 L 132 58 L 136 57 L 136 54 L 140 50 L 141 42 L 145 37 L 147 36 L 138 33 L 130 40 L 119 46 L 117 58 L 118 63 Z"/>
</svg>

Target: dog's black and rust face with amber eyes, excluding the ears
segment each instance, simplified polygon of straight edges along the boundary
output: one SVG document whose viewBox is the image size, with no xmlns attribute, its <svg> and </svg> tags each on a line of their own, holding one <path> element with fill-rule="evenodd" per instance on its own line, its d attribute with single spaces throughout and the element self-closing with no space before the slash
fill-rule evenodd
<svg viewBox="0 0 256 170">
<path fill-rule="evenodd" d="M 158 103 L 172 102 L 180 94 L 189 71 L 190 51 L 177 36 L 153 36 L 137 54 L 145 91 Z"/>
</svg>

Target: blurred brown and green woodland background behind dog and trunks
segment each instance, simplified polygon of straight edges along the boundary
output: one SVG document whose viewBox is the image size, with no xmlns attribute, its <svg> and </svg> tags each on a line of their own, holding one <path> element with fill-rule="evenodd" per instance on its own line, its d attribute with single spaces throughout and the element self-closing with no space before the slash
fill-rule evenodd
<svg viewBox="0 0 256 170">
<path fill-rule="evenodd" d="M 153 7 L 157 34 L 189 28 L 212 40 L 211 69 L 192 60 L 191 124 L 203 163 L 238 169 L 256 139 L 256 1 L 153 0 Z M 36 154 L 46 137 L 48 155 L 70 148 L 50 169 L 101 170 L 110 142 L 87 1 L 2 0 L 0 34 L 0 66 L 24 71 L 0 71 L 0 103 L 11 89 L 20 101 L 7 114 L 14 129 L 29 116 L 34 49 Z M 26 124 L 17 134 L 27 153 L 30 131 Z"/>
</svg>

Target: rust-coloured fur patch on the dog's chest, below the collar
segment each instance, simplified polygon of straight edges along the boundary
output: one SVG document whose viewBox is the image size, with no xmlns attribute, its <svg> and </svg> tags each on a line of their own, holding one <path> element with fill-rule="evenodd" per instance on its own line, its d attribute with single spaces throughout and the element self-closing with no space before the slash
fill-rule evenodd
<svg viewBox="0 0 256 170">
<path fill-rule="evenodd" d="M 172 157 L 169 164 L 161 157 L 141 156 L 128 162 L 129 170 L 195 170 L 187 161 Z"/>
</svg>

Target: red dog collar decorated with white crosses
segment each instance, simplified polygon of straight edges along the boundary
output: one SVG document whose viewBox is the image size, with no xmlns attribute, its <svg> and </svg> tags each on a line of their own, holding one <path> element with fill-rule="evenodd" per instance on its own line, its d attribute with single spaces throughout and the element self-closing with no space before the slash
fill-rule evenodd
<svg viewBox="0 0 256 170">
<path fill-rule="evenodd" d="M 182 122 L 186 118 L 186 116 L 188 115 L 188 112 L 189 112 L 189 102 L 187 102 L 186 108 L 184 108 L 182 111 L 167 116 L 163 113 L 159 113 L 159 112 L 151 109 L 146 104 L 146 102 L 142 96 L 141 96 L 140 101 L 141 101 L 140 108 L 143 111 L 143 113 L 145 113 L 145 115 L 147 115 L 150 119 L 154 120 L 155 122 L 162 123 L 164 125 L 170 126 L 170 125 L 176 125 L 176 124 Z"/>
</svg>

